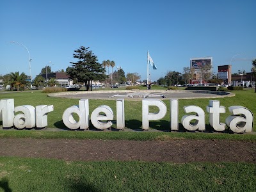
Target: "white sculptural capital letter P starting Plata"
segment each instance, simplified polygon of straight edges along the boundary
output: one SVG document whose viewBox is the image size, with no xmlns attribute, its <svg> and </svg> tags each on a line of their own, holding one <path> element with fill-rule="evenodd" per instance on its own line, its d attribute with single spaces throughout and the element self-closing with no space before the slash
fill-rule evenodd
<svg viewBox="0 0 256 192">
<path fill-rule="evenodd" d="M 149 106 L 156 106 L 159 108 L 158 113 L 150 113 Z M 159 120 L 166 115 L 166 105 L 159 99 L 143 99 L 142 100 L 142 129 L 149 128 L 150 120 Z"/>
</svg>

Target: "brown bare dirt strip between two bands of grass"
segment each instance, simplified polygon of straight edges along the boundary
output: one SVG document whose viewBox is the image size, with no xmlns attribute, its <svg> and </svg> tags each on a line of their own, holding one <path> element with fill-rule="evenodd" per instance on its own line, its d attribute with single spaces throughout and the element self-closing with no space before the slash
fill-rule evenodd
<svg viewBox="0 0 256 192">
<path fill-rule="evenodd" d="M 0 156 L 66 161 L 256 163 L 256 143 L 228 140 L 65 140 L 1 138 Z"/>
</svg>

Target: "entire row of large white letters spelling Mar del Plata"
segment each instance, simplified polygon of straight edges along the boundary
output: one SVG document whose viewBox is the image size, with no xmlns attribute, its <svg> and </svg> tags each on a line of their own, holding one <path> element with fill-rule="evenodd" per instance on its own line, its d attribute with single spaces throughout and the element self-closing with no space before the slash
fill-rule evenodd
<svg viewBox="0 0 256 192">
<path fill-rule="evenodd" d="M 158 108 L 155 113 L 150 113 L 151 108 Z M 220 122 L 220 114 L 225 113 L 225 107 L 220 106 L 219 100 L 209 100 L 209 106 L 206 107 L 209 113 L 209 124 L 216 131 L 225 131 L 225 126 L 233 132 L 252 132 L 253 129 L 253 113 L 243 106 L 230 106 L 230 113 L 225 120 L 225 124 Z M 16 127 L 24 128 L 44 128 L 47 126 L 47 115 L 53 111 L 53 105 L 40 106 L 17 106 L 14 107 L 13 99 L 0 100 L 0 119 L 4 128 Z M 166 115 L 166 105 L 160 99 L 143 99 L 142 100 L 142 129 L 149 129 L 150 120 L 160 120 Z M 205 131 L 205 112 L 198 106 L 185 106 L 185 113 L 181 118 L 183 127 L 189 131 Z M 20 113 L 19 113 L 20 112 Z M 17 113 L 17 114 L 16 114 Z M 131 111 L 131 113 L 133 113 Z M 74 117 L 77 115 L 77 118 Z M 78 106 L 67 108 L 62 120 L 69 129 L 88 129 L 90 119 L 92 125 L 100 130 L 108 129 L 113 125 L 114 113 L 109 106 L 102 105 L 92 111 L 89 118 L 89 100 L 79 100 Z M 125 127 L 125 108 L 124 99 L 116 100 L 116 129 L 124 130 Z M 179 101 L 177 99 L 170 100 L 170 130 L 179 130 Z"/>
</svg>

